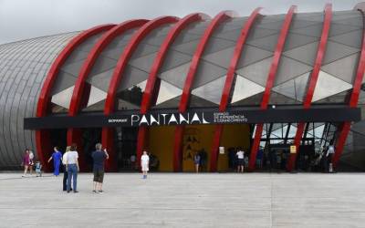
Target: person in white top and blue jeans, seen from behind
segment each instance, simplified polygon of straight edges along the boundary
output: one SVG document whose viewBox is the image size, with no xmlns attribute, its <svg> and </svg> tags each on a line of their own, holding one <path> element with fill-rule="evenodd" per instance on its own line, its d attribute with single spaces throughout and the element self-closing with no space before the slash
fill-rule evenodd
<svg viewBox="0 0 365 228">
<path fill-rule="evenodd" d="M 66 169 L 68 170 L 68 192 L 71 189 L 71 179 L 73 181 L 73 191 L 75 193 L 78 192 L 78 151 L 76 150 L 77 146 L 75 143 L 72 143 L 70 151 L 68 151 L 68 155 L 66 156 Z"/>
</svg>

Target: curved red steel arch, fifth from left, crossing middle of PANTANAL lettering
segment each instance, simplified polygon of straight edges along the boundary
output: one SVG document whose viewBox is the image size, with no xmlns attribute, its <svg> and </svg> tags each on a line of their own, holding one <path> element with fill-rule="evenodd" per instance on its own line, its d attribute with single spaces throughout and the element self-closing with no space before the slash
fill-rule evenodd
<svg viewBox="0 0 365 228">
<path fill-rule="evenodd" d="M 217 26 L 219 26 L 225 20 L 232 18 L 232 16 L 233 16 L 232 11 L 223 11 L 223 12 L 219 13 L 217 16 L 214 16 L 212 22 L 205 29 L 203 36 L 201 37 L 201 39 L 199 41 L 198 47 L 196 48 L 196 50 L 193 54 L 193 59 L 192 59 L 188 74 L 185 79 L 185 83 L 183 86 L 183 95 L 182 95 L 182 99 L 180 100 L 180 103 L 179 103 L 180 112 L 185 112 L 188 107 L 189 98 L 190 98 L 191 90 L 193 87 L 193 79 L 195 78 L 195 74 L 196 74 L 196 71 L 199 66 L 200 58 L 203 56 L 203 51 L 209 41 L 209 37 L 212 36 L 212 34 Z M 178 127 L 176 127 L 175 133 L 174 133 L 174 145 L 173 145 L 173 161 L 174 161 L 173 170 L 174 171 L 182 170 L 181 161 L 182 161 L 182 157 L 183 157 L 182 156 L 182 154 L 183 154 L 183 149 L 182 149 L 183 130 L 184 130 L 183 126 L 178 126 Z"/>
</svg>

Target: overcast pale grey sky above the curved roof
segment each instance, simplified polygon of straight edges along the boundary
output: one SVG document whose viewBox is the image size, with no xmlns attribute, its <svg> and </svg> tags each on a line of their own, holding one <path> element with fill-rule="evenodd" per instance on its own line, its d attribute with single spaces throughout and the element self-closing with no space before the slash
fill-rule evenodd
<svg viewBox="0 0 365 228">
<path fill-rule="evenodd" d="M 364 1 L 364 0 L 363 0 Z M 156 16 L 186 16 L 202 12 L 210 16 L 230 9 L 248 16 L 262 6 L 263 14 L 283 14 L 290 5 L 297 12 L 349 10 L 360 0 L 0 0 L 0 44 L 84 30 L 105 23 Z"/>
</svg>

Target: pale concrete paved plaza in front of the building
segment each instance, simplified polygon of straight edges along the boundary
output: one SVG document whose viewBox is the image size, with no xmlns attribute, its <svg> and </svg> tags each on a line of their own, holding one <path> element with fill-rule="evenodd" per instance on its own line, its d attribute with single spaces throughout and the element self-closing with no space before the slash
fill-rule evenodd
<svg viewBox="0 0 365 228">
<path fill-rule="evenodd" d="M 104 194 L 18 177 L 0 173 L 0 227 L 365 227 L 365 173 L 108 173 Z"/>
</svg>

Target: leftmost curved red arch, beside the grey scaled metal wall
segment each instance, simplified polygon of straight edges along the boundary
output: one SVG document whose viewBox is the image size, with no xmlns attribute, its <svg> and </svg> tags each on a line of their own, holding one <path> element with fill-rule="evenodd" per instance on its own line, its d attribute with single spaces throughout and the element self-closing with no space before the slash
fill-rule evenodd
<svg viewBox="0 0 365 228">
<path fill-rule="evenodd" d="M 75 50 L 78 45 L 88 39 L 90 36 L 94 36 L 102 31 L 110 29 L 114 25 L 102 25 L 89 28 L 88 30 L 75 36 L 68 45 L 59 53 L 56 60 L 50 67 L 47 78 L 43 83 L 43 87 L 40 91 L 37 106 L 36 106 L 36 117 L 45 117 L 47 115 L 48 104 L 50 101 L 50 92 L 53 84 L 56 81 L 60 67 L 65 63 L 68 56 Z M 46 171 L 49 171 L 47 165 L 46 154 L 52 151 L 52 145 L 50 145 L 50 134 L 48 130 L 36 130 L 36 153 L 38 159 L 45 166 Z"/>
</svg>

